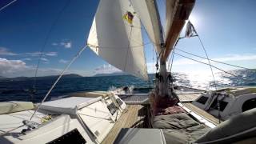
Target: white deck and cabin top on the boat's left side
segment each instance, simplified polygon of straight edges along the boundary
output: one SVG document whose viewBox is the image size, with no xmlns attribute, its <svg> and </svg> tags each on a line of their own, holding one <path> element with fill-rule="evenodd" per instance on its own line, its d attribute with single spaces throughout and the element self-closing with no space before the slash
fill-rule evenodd
<svg viewBox="0 0 256 144">
<path fill-rule="evenodd" d="M 114 123 L 120 118 L 126 104 L 119 106 L 115 97 L 84 98 L 70 97 L 44 102 L 40 110 L 32 118 L 35 129 L 28 130 L 22 121 L 29 120 L 34 110 L 0 115 L 0 143 L 47 143 L 78 130 L 86 143 L 100 143 L 110 132 Z M 110 113 L 108 106 L 114 108 Z M 113 109 L 113 108 L 111 108 Z M 45 116 L 50 120 L 45 120 Z M 22 133 L 22 130 L 26 130 Z"/>
</svg>

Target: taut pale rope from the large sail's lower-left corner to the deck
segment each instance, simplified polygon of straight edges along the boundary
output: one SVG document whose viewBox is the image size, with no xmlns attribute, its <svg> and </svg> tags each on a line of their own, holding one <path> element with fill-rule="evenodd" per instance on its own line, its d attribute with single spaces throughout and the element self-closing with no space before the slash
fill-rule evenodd
<svg viewBox="0 0 256 144">
<path fill-rule="evenodd" d="M 66 68 L 64 70 L 62 70 L 62 73 L 58 76 L 58 79 L 54 82 L 54 85 L 50 87 L 50 90 L 47 92 L 46 96 L 42 99 L 42 102 L 46 101 L 46 98 L 49 96 L 51 90 L 54 89 L 54 86 L 56 86 L 58 81 L 62 78 L 62 76 L 66 72 L 66 70 L 68 70 L 70 68 L 71 64 L 82 54 L 82 51 L 85 50 L 86 47 L 87 47 L 87 45 L 82 47 L 82 49 L 78 51 L 78 54 L 76 54 L 74 56 L 74 58 L 70 61 L 70 63 L 66 66 Z M 40 109 L 40 107 L 42 106 L 42 102 L 38 105 L 37 110 L 34 110 L 34 114 Z M 34 117 L 34 114 L 32 114 L 32 116 L 30 117 L 30 120 Z"/>
</svg>

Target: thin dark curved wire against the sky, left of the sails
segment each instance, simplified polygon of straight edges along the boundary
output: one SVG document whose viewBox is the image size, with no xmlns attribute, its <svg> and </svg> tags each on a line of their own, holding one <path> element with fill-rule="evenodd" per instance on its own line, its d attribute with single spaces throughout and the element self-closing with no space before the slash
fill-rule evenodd
<svg viewBox="0 0 256 144">
<path fill-rule="evenodd" d="M 50 26 L 50 29 L 48 30 L 47 34 L 46 34 L 46 38 L 45 38 L 45 41 L 42 45 L 42 50 L 41 50 L 41 53 L 40 53 L 40 56 L 38 58 L 38 64 L 36 66 L 36 70 L 35 70 L 35 73 L 34 73 L 34 84 L 33 84 L 33 93 L 35 92 L 35 84 L 36 84 L 36 81 L 37 81 L 37 75 L 38 75 L 38 68 L 39 68 L 39 64 L 41 62 L 41 59 L 42 59 L 42 56 L 43 56 L 43 51 L 45 50 L 46 48 L 46 44 L 48 43 L 49 41 L 49 38 L 50 38 L 50 33 L 51 31 L 53 30 L 54 26 L 57 24 L 58 22 L 58 19 L 61 17 L 62 13 L 64 12 L 64 10 L 66 10 L 66 7 L 69 6 L 70 4 L 70 0 L 66 1 L 66 4 L 62 7 L 62 10 L 60 10 L 60 12 L 58 13 L 58 16 L 57 18 L 54 20 L 54 22 L 52 23 L 52 25 Z"/>
</svg>

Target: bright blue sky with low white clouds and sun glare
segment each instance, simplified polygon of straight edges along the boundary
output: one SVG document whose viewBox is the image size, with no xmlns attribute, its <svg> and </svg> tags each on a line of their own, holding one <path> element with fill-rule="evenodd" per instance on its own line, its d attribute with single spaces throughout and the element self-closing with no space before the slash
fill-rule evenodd
<svg viewBox="0 0 256 144">
<path fill-rule="evenodd" d="M 12 0 L 1 0 L 0 8 Z M 164 0 L 157 0 L 162 26 Z M 256 10 L 254 0 L 197 0 L 190 21 L 198 31 L 209 58 L 256 68 Z M 74 54 L 86 45 L 98 6 L 96 0 L 18 0 L 0 11 L 0 76 L 34 76 L 42 47 L 38 75 L 60 74 Z M 64 7 L 64 8 L 63 8 Z M 182 30 L 181 37 L 184 35 Z M 150 42 L 143 32 L 144 42 Z M 198 38 L 183 38 L 177 48 L 206 57 Z M 186 55 L 182 51 L 176 53 Z M 148 72 L 154 73 L 153 46 L 145 46 Z M 197 58 L 198 59 L 198 58 Z M 202 62 L 206 60 L 198 59 Z M 224 70 L 233 67 L 212 63 Z M 174 55 L 174 72 L 205 72 L 209 66 Z M 118 71 L 86 49 L 67 73 L 92 76 Z"/>
</svg>

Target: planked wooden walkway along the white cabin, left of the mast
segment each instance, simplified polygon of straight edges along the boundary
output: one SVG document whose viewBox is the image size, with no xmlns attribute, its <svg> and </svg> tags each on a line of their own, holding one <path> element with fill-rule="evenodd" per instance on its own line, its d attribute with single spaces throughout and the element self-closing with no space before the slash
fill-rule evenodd
<svg viewBox="0 0 256 144">
<path fill-rule="evenodd" d="M 106 135 L 106 138 L 102 141 L 102 144 L 113 143 L 118 136 L 119 131 L 122 128 L 141 127 L 141 122 L 145 116 L 145 110 L 142 105 L 127 105 L 126 110 L 122 113 L 118 122 L 114 124 L 110 133 Z"/>
</svg>

